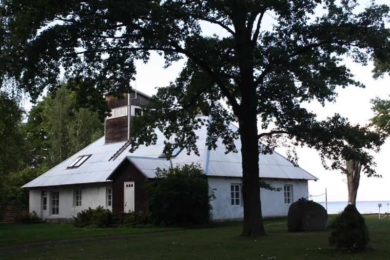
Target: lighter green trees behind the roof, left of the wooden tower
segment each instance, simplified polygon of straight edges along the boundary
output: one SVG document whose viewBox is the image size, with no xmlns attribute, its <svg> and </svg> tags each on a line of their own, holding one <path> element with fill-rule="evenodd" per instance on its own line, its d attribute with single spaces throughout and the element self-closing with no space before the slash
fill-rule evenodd
<svg viewBox="0 0 390 260">
<path fill-rule="evenodd" d="M 24 127 L 30 164 L 53 167 L 103 135 L 98 110 L 90 109 L 89 96 L 79 97 L 82 88 L 74 88 L 62 83 L 32 107 Z"/>
</svg>

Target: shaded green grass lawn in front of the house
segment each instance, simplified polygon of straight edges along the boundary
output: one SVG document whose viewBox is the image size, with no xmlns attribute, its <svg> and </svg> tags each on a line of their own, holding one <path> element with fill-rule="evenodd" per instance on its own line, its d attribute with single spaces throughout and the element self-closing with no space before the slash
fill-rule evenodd
<svg viewBox="0 0 390 260">
<path fill-rule="evenodd" d="M 330 215 L 331 218 L 331 215 Z M 241 237 L 242 222 L 198 229 L 75 228 L 56 224 L 0 225 L 6 259 L 390 259 L 390 219 L 365 216 L 368 248 L 347 253 L 328 245 L 331 230 L 289 233 L 287 219 L 266 219 L 266 236 Z M 14 252 L 9 254 L 9 252 Z"/>
</svg>

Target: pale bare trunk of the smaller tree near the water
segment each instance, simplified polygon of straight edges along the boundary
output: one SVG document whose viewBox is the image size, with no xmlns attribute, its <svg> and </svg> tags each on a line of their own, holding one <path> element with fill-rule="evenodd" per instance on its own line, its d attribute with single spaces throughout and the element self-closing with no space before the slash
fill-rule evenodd
<svg viewBox="0 0 390 260">
<path fill-rule="evenodd" d="M 348 203 L 356 205 L 357 189 L 359 188 L 360 171 L 362 164 L 359 161 L 346 161 L 346 175 L 348 185 Z"/>
</svg>

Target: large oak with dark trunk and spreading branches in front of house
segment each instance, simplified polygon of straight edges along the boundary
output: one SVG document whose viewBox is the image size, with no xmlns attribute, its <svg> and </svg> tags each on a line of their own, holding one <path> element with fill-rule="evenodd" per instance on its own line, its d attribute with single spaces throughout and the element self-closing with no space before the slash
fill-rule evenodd
<svg viewBox="0 0 390 260">
<path fill-rule="evenodd" d="M 387 57 L 387 6 L 371 3 L 356 13 L 355 0 L 2 0 L 1 79 L 15 80 L 36 99 L 68 75 L 94 82 L 101 91 L 130 91 L 133 59 L 149 51 L 167 65 L 187 59 L 175 83 L 160 88 L 134 145 L 150 143 L 159 126 L 188 149 L 194 128 L 207 123 L 209 148 L 222 137 L 228 149 L 241 141 L 245 236 L 264 233 L 259 194 L 258 153 L 276 137 L 293 144 L 322 141 L 326 123 L 302 102 L 334 101 L 336 86 L 355 85 L 345 57 L 367 64 Z M 214 35 L 203 33 L 213 25 Z M 7 66 L 4 66 L 7 62 Z M 153 72 L 151 72 L 153 74 Z M 152 110 L 152 108 L 158 108 Z M 156 112 L 153 112 L 156 111 Z M 158 112 L 158 113 L 157 113 Z M 211 122 L 199 122 L 201 112 Z M 138 120 L 139 123 L 143 120 Z M 259 124 L 263 128 L 259 134 Z M 169 122 L 167 126 L 165 123 Z M 273 126 L 273 127 L 270 127 Z M 138 129 L 138 130 L 137 130 Z M 145 130 L 146 129 L 146 130 Z M 147 134 L 147 135 L 146 135 Z M 267 138 L 267 145 L 259 140 Z M 265 140 L 265 141 L 267 141 Z M 328 138 L 323 141 L 326 143 Z M 170 149 L 167 143 L 167 151 Z"/>
</svg>

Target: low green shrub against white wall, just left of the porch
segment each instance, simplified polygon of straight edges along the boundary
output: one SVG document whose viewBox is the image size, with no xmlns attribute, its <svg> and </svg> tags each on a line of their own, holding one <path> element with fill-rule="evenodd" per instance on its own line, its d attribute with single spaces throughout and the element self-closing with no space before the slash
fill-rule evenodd
<svg viewBox="0 0 390 260">
<path fill-rule="evenodd" d="M 109 209 L 104 209 L 98 206 L 96 209 L 88 207 L 77 213 L 77 217 L 73 216 L 73 225 L 75 227 L 106 227 L 107 214 L 111 213 Z"/>
</svg>

